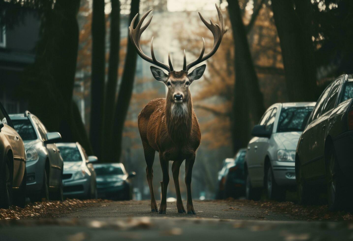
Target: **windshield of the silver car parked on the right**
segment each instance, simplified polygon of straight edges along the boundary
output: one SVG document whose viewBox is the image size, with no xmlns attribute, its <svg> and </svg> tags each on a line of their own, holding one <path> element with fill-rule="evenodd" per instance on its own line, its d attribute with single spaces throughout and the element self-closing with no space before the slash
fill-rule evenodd
<svg viewBox="0 0 353 241">
<path fill-rule="evenodd" d="M 314 107 L 283 107 L 277 132 L 303 131 Z"/>
</svg>

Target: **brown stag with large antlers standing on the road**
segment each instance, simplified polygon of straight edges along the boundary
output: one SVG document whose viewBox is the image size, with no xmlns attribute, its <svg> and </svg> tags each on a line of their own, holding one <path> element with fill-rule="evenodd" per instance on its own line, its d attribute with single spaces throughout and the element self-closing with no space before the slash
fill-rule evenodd
<svg viewBox="0 0 353 241">
<path fill-rule="evenodd" d="M 218 18 L 220 24 L 214 24 L 210 19 L 208 23 L 199 13 L 202 22 L 212 32 L 214 37 L 213 48 L 209 53 L 204 55 L 205 40 L 202 38 L 203 47 L 199 57 L 186 65 L 186 56 L 184 49 L 183 70 L 175 71 L 170 61 L 170 52 L 168 52 L 168 64 L 166 65 L 155 58 L 153 50 L 153 37 L 151 40 L 151 57 L 142 52 L 140 46 L 140 37 L 143 31 L 151 23 L 152 17 L 142 26 L 143 21 L 148 14 L 153 10 L 147 11 L 139 20 L 136 28 L 133 28 L 135 20 L 138 16 L 132 19 L 129 27 L 130 40 L 136 48 L 138 55 L 162 69 L 166 70 L 166 74 L 160 68 L 150 66 L 153 77 L 159 82 L 164 83 L 167 88 L 166 98 L 157 98 L 150 101 L 141 110 L 138 115 L 138 130 L 142 140 L 146 167 L 147 182 L 151 195 L 151 212 L 158 214 L 166 214 L 167 209 L 167 187 L 169 183 L 169 161 L 173 161 L 172 173 L 175 184 L 175 192 L 177 195 L 178 213 L 186 213 L 183 201 L 181 200 L 179 187 L 179 170 L 185 160 L 185 184 L 187 191 L 187 214 L 196 214 L 192 204 L 191 197 L 191 175 L 192 168 L 195 163 L 196 150 L 201 142 L 201 131 L 196 114 L 192 107 L 192 98 L 189 86 L 197 79 L 200 79 L 205 71 L 206 65 L 196 67 L 191 73 L 190 68 L 207 60 L 214 55 L 221 44 L 223 34 L 227 31 L 224 19 L 219 7 L 216 4 Z M 163 178 L 161 183 L 162 199 L 158 212 L 156 199 L 153 189 L 153 168 L 155 152 L 159 152 L 160 164 Z"/>
</svg>

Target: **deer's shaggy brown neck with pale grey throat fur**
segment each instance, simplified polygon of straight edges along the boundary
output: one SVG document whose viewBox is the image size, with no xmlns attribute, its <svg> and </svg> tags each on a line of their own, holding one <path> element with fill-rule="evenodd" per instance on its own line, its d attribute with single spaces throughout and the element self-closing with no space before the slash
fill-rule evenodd
<svg viewBox="0 0 353 241">
<path fill-rule="evenodd" d="M 175 144 L 189 140 L 192 128 L 191 97 L 183 103 L 166 101 L 166 125 L 169 137 Z"/>
</svg>

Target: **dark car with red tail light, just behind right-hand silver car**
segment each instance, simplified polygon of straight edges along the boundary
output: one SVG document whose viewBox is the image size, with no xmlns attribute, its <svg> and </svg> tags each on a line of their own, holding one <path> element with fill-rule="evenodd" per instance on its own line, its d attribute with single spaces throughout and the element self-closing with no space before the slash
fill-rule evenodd
<svg viewBox="0 0 353 241">
<path fill-rule="evenodd" d="M 246 149 L 239 149 L 226 175 L 225 197 L 239 198 L 245 194 L 245 160 Z"/>
</svg>

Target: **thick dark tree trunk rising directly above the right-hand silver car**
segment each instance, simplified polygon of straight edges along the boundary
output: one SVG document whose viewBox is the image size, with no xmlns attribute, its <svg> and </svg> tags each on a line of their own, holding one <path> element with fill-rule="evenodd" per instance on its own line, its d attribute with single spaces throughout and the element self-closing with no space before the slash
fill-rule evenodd
<svg viewBox="0 0 353 241">
<path fill-rule="evenodd" d="M 298 13 L 303 18 L 309 17 L 310 4 L 310 1 L 307 4 L 298 1 Z M 280 38 L 288 100 L 315 101 L 316 68 L 308 23 L 306 19 L 301 22 L 293 1 L 273 0 L 272 9 Z"/>
</svg>

